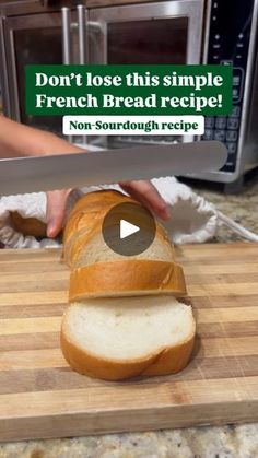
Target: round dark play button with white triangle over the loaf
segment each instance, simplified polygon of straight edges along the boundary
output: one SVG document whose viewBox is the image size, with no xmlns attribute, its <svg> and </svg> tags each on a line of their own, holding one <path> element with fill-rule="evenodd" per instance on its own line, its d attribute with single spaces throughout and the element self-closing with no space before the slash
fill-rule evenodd
<svg viewBox="0 0 258 458">
<path fill-rule="evenodd" d="M 144 207 L 125 202 L 113 207 L 106 214 L 102 233 L 109 248 L 122 256 L 145 251 L 155 237 L 155 220 Z"/>
</svg>

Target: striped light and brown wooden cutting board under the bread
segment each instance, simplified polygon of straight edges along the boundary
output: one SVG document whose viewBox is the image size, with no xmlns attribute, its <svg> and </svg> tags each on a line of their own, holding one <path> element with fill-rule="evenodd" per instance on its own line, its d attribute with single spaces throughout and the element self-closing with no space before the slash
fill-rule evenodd
<svg viewBox="0 0 258 458">
<path fill-rule="evenodd" d="M 0 441 L 258 420 L 258 244 L 185 246 L 177 260 L 198 322 L 191 363 L 107 383 L 60 352 L 60 251 L 0 250 Z"/>
</svg>

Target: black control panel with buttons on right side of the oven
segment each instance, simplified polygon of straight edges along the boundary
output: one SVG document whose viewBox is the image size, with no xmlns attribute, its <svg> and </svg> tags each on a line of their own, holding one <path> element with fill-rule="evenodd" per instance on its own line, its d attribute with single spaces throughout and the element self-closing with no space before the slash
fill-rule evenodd
<svg viewBox="0 0 258 458">
<path fill-rule="evenodd" d="M 213 0 L 211 3 L 207 61 L 233 66 L 233 110 L 230 116 L 206 117 L 203 140 L 225 143 L 228 156 L 222 168 L 236 168 L 243 94 L 249 50 L 254 0 Z"/>
</svg>

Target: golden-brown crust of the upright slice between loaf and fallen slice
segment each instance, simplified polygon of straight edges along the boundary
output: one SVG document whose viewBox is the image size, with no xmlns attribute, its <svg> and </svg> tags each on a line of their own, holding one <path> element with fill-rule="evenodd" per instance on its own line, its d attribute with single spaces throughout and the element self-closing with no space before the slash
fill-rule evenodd
<svg viewBox="0 0 258 458">
<path fill-rule="evenodd" d="M 161 293 L 186 295 L 185 278 L 179 265 L 142 259 L 117 260 L 79 268 L 70 277 L 70 302 Z"/>
</svg>

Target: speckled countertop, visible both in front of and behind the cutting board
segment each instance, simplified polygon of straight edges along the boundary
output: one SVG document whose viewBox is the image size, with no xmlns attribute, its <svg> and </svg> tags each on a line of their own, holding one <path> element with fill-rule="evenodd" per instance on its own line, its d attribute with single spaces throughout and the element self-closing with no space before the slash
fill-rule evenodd
<svg viewBox="0 0 258 458">
<path fill-rule="evenodd" d="M 258 234 L 258 175 L 239 195 L 224 195 L 208 185 L 195 190 L 227 216 Z M 241 237 L 220 227 L 213 242 Z M 0 458 L 258 458 L 258 424 L 191 427 L 145 433 L 27 441 L 0 445 Z"/>
</svg>

